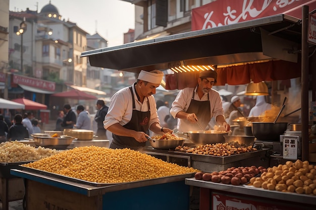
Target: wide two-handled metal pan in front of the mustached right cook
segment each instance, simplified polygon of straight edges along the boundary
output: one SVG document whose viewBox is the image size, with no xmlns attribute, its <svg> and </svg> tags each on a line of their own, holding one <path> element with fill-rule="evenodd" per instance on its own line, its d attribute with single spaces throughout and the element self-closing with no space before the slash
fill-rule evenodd
<svg viewBox="0 0 316 210">
<path fill-rule="evenodd" d="M 184 134 L 186 134 L 196 146 L 202 146 L 207 144 L 225 143 L 224 135 L 228 135 L 230 132 L 223 131 L 218 133 L 215 130 L 196 130 L 184 132 Z"/>
</svg>

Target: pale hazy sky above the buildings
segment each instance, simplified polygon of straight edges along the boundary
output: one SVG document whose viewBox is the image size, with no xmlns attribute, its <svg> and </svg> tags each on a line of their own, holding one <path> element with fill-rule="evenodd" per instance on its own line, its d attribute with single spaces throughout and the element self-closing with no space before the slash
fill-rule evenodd
<svg viewBox="0 0 316 210">
<path fill-rule="evenodd" d="M 38 12 L 49 0 L 10 0 L 10 11 Z M 108 40 L 108 46 L 122 45 L 123 34 L 135 28 L 135 6 L 121 0 L 51 0 L 62 20 L 76 23 L 81 29 Z"/>
</svg>

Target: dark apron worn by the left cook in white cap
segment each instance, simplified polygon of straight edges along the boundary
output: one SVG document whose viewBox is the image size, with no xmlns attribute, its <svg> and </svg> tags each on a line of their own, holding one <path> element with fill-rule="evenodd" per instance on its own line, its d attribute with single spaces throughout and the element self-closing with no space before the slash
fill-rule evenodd
<svg viewBox="0 0 316 210">
<path fill-rule="evenodd" d="M 135 106 L 135 98 L 133 94 L 132 87 L 129 87 L 131 93 L 132 93 L 132 101 L 133 101 L 133 112 L 132 112 L 132 118 L 131 120 L 123 125 L 123 127 L 131 130 L 136 131 L 143 131 L 148 134 L 148 128 L 149 128 L 149 120 L 150 120 L 150 106 L 149 106 L 149 100 L 147 98 L 147 104 L 148 104 L 148 111 L 142 112 L 136 110 Z M 145 147 L 146 143 L 140 143 L 137 142 L 135 138 L 128 137 L 128 136 L 121 136 L 112 134 L 113 141 L 111 143 L 110 148 L 111 149 L 124 149 L 124 148 L 130 148 L 137 150 L 140 147 Z"/>
</svg>

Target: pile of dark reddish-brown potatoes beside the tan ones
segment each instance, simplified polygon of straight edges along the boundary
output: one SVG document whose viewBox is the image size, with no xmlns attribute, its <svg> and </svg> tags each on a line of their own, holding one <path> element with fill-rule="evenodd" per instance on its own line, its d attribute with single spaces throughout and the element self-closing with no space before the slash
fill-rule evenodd
<svg viewBox="0 0 316 210">
<path fill-rule="evenodd" d="M 212 172 L 212 173 L 203 173 L 197 172 L 195 173 L 194 177 L 197 180 L 204 180 L 204 181 L 212 181 L 216 183 L 223 183 L 223 184 L 232 184 L 232 185 L 240 185 L 245 184 L 250 181 L 251 178 L 254 178 L 259 173 L 266 172 L 266 168 L 259 166 L 250 166 L 250 167 L 231 167 L 228 168 L 226 171 L 220 172 Z"/>
</svg>

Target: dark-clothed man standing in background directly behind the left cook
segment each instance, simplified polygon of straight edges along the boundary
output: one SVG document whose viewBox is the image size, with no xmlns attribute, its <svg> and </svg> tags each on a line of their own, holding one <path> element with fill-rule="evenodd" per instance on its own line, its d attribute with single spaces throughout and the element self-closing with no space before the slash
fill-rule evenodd
<svg viewBox="0 0 316 210">
<path fill-rule="evenodd" d="M 94 121 L 97 123 L 97 129 L 96 129 L 96 138 L 97 139 L 107 139 L 107 130 L 103 127 L 103 121 L 106 118 L 106 115 L 108 114 L 109 107 L 106 106 L 103 100 L 97 100 L 96 101 L 96 108 L 97 112 L 94 117 Z"/>
</svg>

